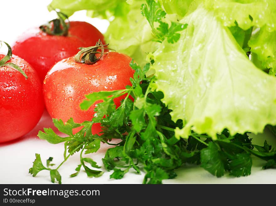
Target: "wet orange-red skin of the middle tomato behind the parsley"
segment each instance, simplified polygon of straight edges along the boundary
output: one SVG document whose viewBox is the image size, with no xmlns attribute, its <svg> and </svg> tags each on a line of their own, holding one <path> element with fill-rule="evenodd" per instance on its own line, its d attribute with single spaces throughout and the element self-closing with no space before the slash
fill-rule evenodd
<svg viewBox="0 0 276 206">
<path fill-rule="evenodd" d="M 64 122 L 71 117 L 77 123 L 91 121 L 95 104 L 87 111 L 79 107 L 85 95 L 125 89 L 126 85 L 131 85 L 130 77 L 133 77 L 134 71 L 129 65 L 130 61 L 127 55 L 108 52 L 91 65 L 76 63 L 73 57 L 58 62 L 48 72 L 43 84 L 45 105 L 50 116 Z M 117 107 L 122 98 L 114 99 Z M 100 131 L 100 125 L 93 124 L 92 133 Z"/>
</svg>

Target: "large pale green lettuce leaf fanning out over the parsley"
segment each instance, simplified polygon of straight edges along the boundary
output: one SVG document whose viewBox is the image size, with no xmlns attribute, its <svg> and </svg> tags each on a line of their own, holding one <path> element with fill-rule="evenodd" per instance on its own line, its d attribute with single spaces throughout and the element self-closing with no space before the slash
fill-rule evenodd
<svg viewBox="0 0 276 206">
<path fill-rule="evenodd" d="M 188 24 L 180 40 L 153 53 L 157 91 L 173 121 L 183 120 L 176 136 L 194 130 L 215 139 L 224 128 L 256 134 L 275 125 L 276 79 L 248 59 L 214 12 L 200 6 L 180 23 Z"/>
</svg>

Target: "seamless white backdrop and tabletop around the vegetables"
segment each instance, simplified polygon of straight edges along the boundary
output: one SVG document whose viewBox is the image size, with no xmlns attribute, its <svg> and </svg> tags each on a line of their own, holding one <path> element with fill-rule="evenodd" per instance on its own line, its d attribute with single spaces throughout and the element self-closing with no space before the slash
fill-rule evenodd
<svg viewBox="0 0 276 206">
<path fill-rule="evenodd" d="M 55 18 L 55 13 L 49 13 L 46 6 L 49 0 L 9 0 L 1 2 L 1 32 L 0 40 L 12 44 L 15 38 L 23 31 L 32 26 L 38 26 Z M 10 12 L 13 14 L 10 14 Z M 9 17 L 10 16 L 10 17 Z M 101 32 L 105 32 L 108 23 L 103 20 L 92 19 L 85 16 L 85 12 L 75 13 L 70 20 L 83 20 L 96 26 Z M 4 28 L 4 29 L 3 29 Z M 63 144 L 52 145 L 36 137 L 39 130 L 43 127 L 52 127 L 50 117 L 47 113 L 43 115 L 39 124 L 27 135 L 18 141 L 9 144 L 0 144 L 0 183 L 34 183 L 34 184 L 51 184 L 49 171 L 38 173 L 37 177 L 32 177 L 28 172 L 34 161 L 35 153 L 40 153 L 43 164 L 49 156 L 54 157 L 53 163 L 60 164 L 63 161 Z M 276 138 L 268 134 L 268 143 L 276 145 Z M 263 144 L 262 138 L 254 138 Z M 106 145 L 96 154 L 90 154 L 98 165 L 102 166 L 101 158 L 104 157 Z M 252 174 L 247 177 L 229 177 L 224 176 L 216 178 L 204 169 L 198 166 L 185 166 L 176 172 L 178 177 L 172 180 L 164 180 L 163 183 L 273 183 L 276 184 L 276 170 L 262 170 L 264 161 L 253 159 Z M 81 171 L 77 177 L 70 178 L 69 175 L 75 172 L 79 162 L 79 153 L 70 157 L 66 163 L 61 166 L 59 172 L 62 176 L 62 183 L 91 183 L 91 184 L 141 184 L 144 174 L 137 175 L 134 171 L 129 172 L 121 180 L 110 179 L 111 172 L 105 172 L 98 178 L 88 178 L 86 173 Z"/>
</svg>

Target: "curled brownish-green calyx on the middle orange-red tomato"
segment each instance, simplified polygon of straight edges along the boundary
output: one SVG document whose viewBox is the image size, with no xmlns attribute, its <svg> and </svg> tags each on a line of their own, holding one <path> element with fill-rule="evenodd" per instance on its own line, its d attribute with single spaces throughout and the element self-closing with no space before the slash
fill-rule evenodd
<svg viewBox="0 0 276 206">
<path fill-rule="evenodd" d="M 104 55 L 104 47 L 109 44 L 103 44 L 99 39 L 95 46 L 80 48 L 81 50 L 75 55 L 74 60 L 82 64 L 94 64 Z M 101 49 L 99 52 L 98 49 Z M 100 54 L 100 56 L 96 56 Z"/>
</svg>

